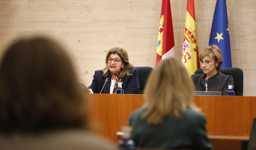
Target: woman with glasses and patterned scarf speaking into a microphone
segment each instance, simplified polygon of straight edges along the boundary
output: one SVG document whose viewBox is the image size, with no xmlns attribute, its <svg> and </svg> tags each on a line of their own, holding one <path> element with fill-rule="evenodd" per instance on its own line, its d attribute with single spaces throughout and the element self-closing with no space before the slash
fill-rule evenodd
<svg viewBox="0 0 256 150">
<path fill-rule="evenodd" d="M 96 70 L 89 89 L 93 93 L 116 94 L 117 83 L 122 82 L 124 94 L 137 94 L 140 88 L 138 70 L 129 63 L 128 54 L 122 48 L 112 48 L 106 55 L 106 67 Z M 104 86 L 105 85 L 105 86 Z"/>
</svg>

